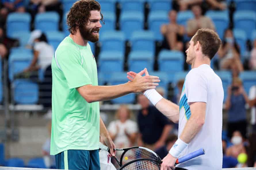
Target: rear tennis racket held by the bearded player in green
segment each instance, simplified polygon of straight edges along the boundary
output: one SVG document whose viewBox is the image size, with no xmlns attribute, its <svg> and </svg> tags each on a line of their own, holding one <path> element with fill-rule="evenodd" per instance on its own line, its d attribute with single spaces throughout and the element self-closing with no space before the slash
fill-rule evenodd
<svg viewBox="0 0 256 170">
<path fill-rule="evenodd" d="M 102 143 L 100 143 L 100 149 L 104 149 L 109 152 L 109 148 Z M 129 148 L 123 148 L 123 149 L 114 149 L 115 151 L 123 151 L 120 161 L 114 157 L 116 162 L 121 167 L 122 165 L 134 160 L 134 159 L 140 159 L 140 158 L 147 158 L 152 160 L 161 161 L 161 158 L 152 150 L 145 148 L 145 147 L 129 147 Z"/>
</svg>

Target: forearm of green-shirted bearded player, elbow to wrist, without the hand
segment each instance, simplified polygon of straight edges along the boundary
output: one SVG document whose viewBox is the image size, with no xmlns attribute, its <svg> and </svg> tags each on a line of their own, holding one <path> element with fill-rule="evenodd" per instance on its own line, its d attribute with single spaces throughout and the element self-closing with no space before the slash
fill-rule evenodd
<svg viewBox="0 0 256 170">
<path fill-rule="evenodd" d="M 133 92 L 130 82 L 115 86 L 86 85 L 86 88 L 80 87 L 77 90 L 88 103 L 111 100 Z"/>
</svg>

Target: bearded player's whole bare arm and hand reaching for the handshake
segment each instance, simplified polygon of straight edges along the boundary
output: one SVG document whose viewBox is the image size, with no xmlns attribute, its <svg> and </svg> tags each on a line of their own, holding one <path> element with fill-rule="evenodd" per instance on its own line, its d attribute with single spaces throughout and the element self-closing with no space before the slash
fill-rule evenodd
<svg viewBox="0 0 256 170">
<path fill-rule="evenodd" d="M 144 90 L 156 88 L 160 82 L 156 76 L 140 76 L 136 75 L 133 82 L 119 84 L 115 86 L 92 86 L 91 84 L 77 88 L 77 91 L 85 98 L 88 103 L 111 100 L 120 96 L 124 96 L 131 92 L 142 92 Z"/>
</svg>

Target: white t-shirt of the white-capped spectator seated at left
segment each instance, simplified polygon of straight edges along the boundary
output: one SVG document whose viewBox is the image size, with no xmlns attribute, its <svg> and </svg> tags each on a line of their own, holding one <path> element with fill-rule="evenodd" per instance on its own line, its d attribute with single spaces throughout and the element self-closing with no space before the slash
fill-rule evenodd
<svg viewBox="0 0 256 170">
<path fill-rule="evenodd" d="M 44 41 L 40 41 L 35 43 L 34 49 L 39 52 L 39 66 L 45 70 L 51 65 L 51 59 L 54 55 L 53 47 Z"/>
</svg>

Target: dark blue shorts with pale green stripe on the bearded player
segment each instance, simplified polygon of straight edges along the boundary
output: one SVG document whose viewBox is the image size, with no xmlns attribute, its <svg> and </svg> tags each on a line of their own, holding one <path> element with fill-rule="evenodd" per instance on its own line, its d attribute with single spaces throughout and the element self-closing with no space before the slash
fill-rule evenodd
<svg viewBox="0 0 256 170">
<path fill-rule="evenodd" d="M 100 170 L 99 150 L 67 150 L 55 155 L 57 169 Z"/>
</svg>

